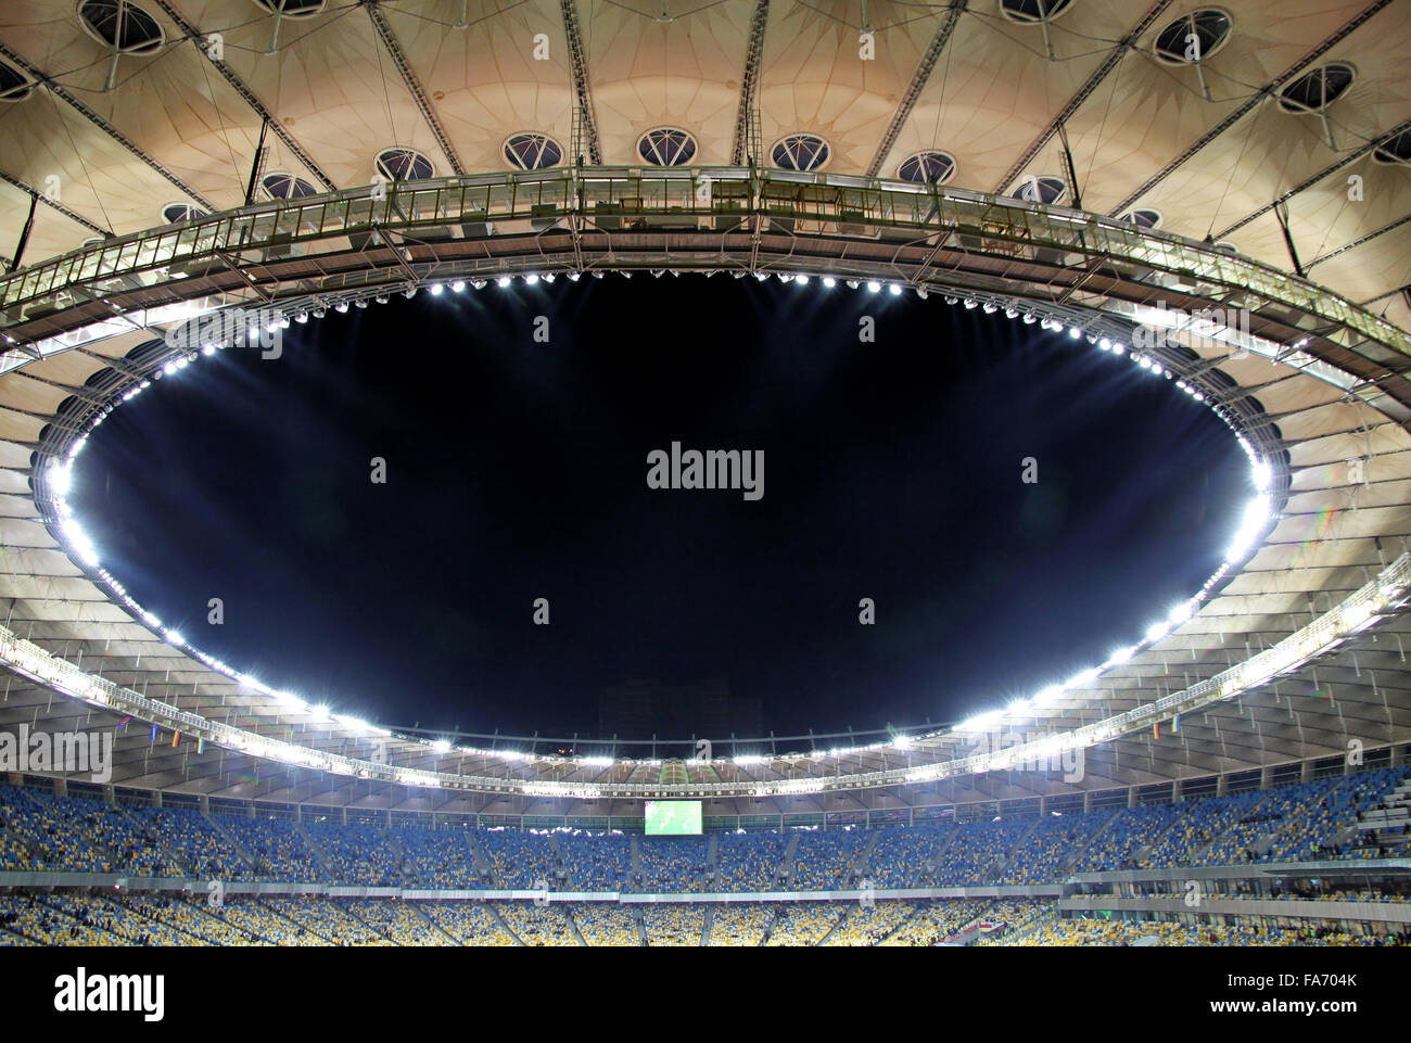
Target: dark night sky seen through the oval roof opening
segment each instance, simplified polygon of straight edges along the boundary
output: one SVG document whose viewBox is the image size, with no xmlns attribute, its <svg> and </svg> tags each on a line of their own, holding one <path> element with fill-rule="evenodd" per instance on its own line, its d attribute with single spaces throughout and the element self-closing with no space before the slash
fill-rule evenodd
<svg viewBox="0 0 1411 1043">
<path fill-rule="evenodd" d="M 124 405 L 71 501 L 188 641 L 392 725 L 593 731 L 604 685 L 717 676 L 780 734 L 954 720 L 1137 641 L 1250 491 L 1167 381 L 937 296 L 516 282 L 330 312 L 284 349 Z M 672 440 L 765 450 L 763 500 L 649 490 Z"/>
</svg>

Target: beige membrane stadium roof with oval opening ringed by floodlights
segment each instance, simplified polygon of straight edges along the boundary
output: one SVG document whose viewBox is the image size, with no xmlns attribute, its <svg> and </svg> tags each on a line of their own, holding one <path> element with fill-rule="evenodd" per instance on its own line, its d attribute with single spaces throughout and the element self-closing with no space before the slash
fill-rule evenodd
<svg viewBox="0 0 1411 1043">
<path fill-rule="evenodd" d="M 1404 6 L 83 0 L 4 17 L 0 254 L 21 270 L 0 281 L 0 604 L 34 648 L 0 642 L 18 670 L 0 725 L 159 721 L 162 742 L 120 732 L 123 785 L 515 813 L 1007 799 L 1411 738 Z M 1199 61 L 1170 49 L 1187 35 Z M 1095 350 L 1136 347 L 1167 309 L 1233 309 L 1247 329 L 1130 354 L 1219 408 L 1267 466 L 1277 524 L 1191 618 L 1006 718 L 1106 728 L 1072 740 L 1070 783 L 955 766 L 974 742 L 954 732 L 711 764 L 443 751 L 212 669 L 65 535 L 48 462 L 189 353 L 164 340 L 183 320 L 662 267 L 876 279 Z M 1266 676 L 1256 656 L 1278 648 Z M 292 764 L 268 741 L 320 752 Z"/>
</svg>

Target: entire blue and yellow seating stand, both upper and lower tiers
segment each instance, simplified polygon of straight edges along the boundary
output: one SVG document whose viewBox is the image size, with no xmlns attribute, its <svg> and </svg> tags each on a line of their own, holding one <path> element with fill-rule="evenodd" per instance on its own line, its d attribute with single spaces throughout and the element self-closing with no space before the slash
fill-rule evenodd
<svg viewBox="0 0 1411 1043">
<path fill-rule="evenodd" d="M 1366 905 L 1411 902 L 1411 874 L 1388 862 L 1401 848 L 1407 766 L 1333 775 L 1270 789 L 1171 804 L 1088 813 L 972 819 L 885 828 L 631 837 L 581 830 L 344 824 L 261 814 L 206 814 L 190 807 L 111 804 L 61 797 L 42 786 L 0 786 L 0 872 L 107 874 L 97 879 L 169 879 L 97 889 L 72 885 L 0 900 L 4 944 L 214 946 L 930 946 L 952 944 L 1381 944 L 1404 940 L 1394 915 Z M 1369 820 L 1371 828 L 1367 828 Z M 1383 833 L 1391 831 L 1391 843 Z M 1250 864 L 1324 860 L 1316 875 L 1270 882 Z M 1350 865 L 1353 875 L 1328 868 Z M 1055 885 L 1103 895 L 1110 871 L 1199 865 L 1211 899 L 1249 903 L 1223 923 L 1177 923 L 1147 906 L 1094 919 L 1055 903 Z M 478 867 L 478 868 L 477 868 Z M 1075 878 L 1074 874 L 1085 874 Z M 1369 875 L 1371 874 L 1371 875 Z M 1398 875 L 1400 874 L 1400 875 Z M 121 879 L 127 881 L 128 876 Z M 217 886 L 205 881 L 220 881 Z M 85 882 L 87 881 L 87 882 Z M 450 900 L 402 888 L 595 891 L 701 895 L 707 891 L 847 891 L 845 900 L 690 903 L 617 900 Z M 254 885 L 272 893 L 247 893 Z M 224 895 L 230 885 L 246 892 Z M 281 886 L 286 885 L 286 886 Z M 327 888 L 382 888 L 358 899 Z M 871 889 L 868 886 L 871 885 Z M 13 888 L 14 885 L 11 885 Z M 1048 886 L 1044 896 L 883 896 L 889 888 Z M 1096 891 L 1091 888 L 1098 888 Z M 316 892 L 316 893 L 289 893 Z M 999 893 L 999 892 L 992 892 Z M 1065 892 L 1071 893 L 1071 892 Z M 1158 875 L 1137 878 L 1127 899 L 1177 893 Z M 224 898 L 222 899 L 222 895 Z M 844 899 L 840 895 L 840 899 Z M 1273 916 L 1254 902 L 1343 903 L 1314 915 L 1290 905 Z M 1158 916 L 1160 919 L 1153 919 Z"/>
</svg>

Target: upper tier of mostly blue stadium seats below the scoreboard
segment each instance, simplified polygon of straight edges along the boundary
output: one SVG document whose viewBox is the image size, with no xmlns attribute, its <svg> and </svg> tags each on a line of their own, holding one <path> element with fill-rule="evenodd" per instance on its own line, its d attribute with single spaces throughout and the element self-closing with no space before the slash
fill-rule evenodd
<svg viewBox="0 0 1411 1043">
<path fill-rule="evenodd" d="M 426 830 L 207 816 L 113 806 L 0 785 L 0 869 L 134 876 L 339 882 L 365 886 L 729 893 L 862 886 L 1054 882 L 1072 872 L 1393 857 L 1359 830 L 1408 769 L 1384 768 L 1268 790 L 1116 812 L 1010 817 L 948 827 L 724 833 L 634 838 L 515 830 Z M 793 841 L 793 855 L 790 851 Z M 714 861 L 711 844 L 714 843 Z M 490 879 L 480 878 L 476 852 Z M 934 871 L 933 871 L 934 867 Z"/>
</svg>

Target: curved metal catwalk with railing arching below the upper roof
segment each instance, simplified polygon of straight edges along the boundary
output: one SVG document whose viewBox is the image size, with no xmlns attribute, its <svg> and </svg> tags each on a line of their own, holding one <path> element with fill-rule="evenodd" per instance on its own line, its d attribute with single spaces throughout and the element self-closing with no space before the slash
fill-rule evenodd
<svg viewBox="0 0 1411 1043">
<path fill-rule="evenodd" d="M 1101 260 L 1154 289 L 1167 288 L 1163 279 L 1153 281 L 1160 272 L 1168 277 L 1165 282 L 1180 284 L 1178 292 L 1218 299 L 1242 291 L 1252 308 L 1270 303 L 1297 311 L 1309 316 L 1309 333 L 1386 364 L 1411 356 L 1411 336 L 1394 323 L 1331 289 L 1204 243 L 959 188 L 737 167 L 516 171 L 277 199 L 93 243 L 13 272 L 0 279 L 0 330 L 37 318 L 58 322 L 56 312 L 144 287 L 164 285 L 179 298 L 175 284 L 200 274 L 203 264 L 250 270 L 253 284 L 260 284 L 272 278 L 265 265 L 375 248 L 388 233 L 425 246 L 550 229 L 574 237 L 624 230 L 713 233 L 721 237 L 713 263 L 725 258 L 746 267 L 758 261 L 751 239 L 769 229 L 856 240 L 895 230 L 923 246 L 1065 268 L 1091 270 Z M 729 233 L 748 237 L 727 243 Z M 485 263 L 497 261 L 480 251 L 476 264 L 484 271 Z M 550 260 L 546 270 L 555 264 Z M 672 264 L 690 268 L 703 261 L 677 255 Z M 941 272 L 912 267 L 896 274 L 916 281 L 941 278 Z M 1369 353 L 1363 342 L 1390 353 Z"/>
</svg>

